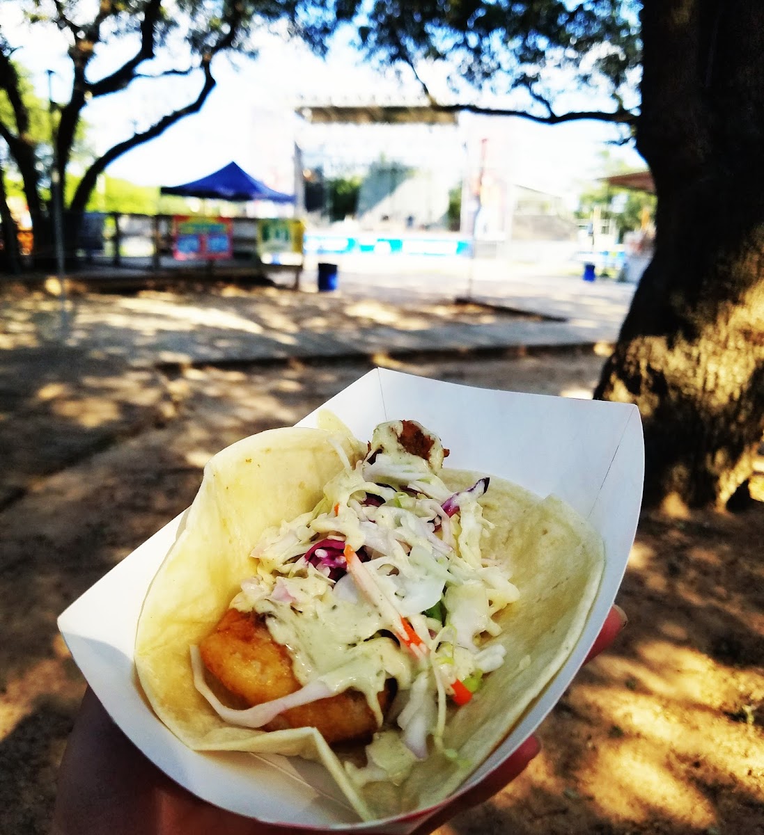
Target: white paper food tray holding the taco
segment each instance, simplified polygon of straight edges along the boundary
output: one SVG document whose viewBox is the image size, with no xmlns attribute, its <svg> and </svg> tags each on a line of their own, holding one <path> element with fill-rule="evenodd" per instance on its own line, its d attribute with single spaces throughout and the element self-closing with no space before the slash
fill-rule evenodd
<svg viewBox="0 0 764 835">
<path fill-rule="evenodd" d="M 451 449 L 449 466 L 493 473 L 539 496 L 554 493 L 604 539 L 603 581 L 573 654 L 464 791 L 536 729 L 570 684 L 609 612 L 639 519 L 644 473 L 639 412 L 624 403 L 492 391 L 379 368 L 321 408 L 335 412 L 362 439 L 371 437 L 377 423 L 417 420 Z M 318 411 L 298 426 L 315 425 Z M 135 629 L 180 521 L 173 519 L 140 545 L 59 617 L 74 660 L 106 710 L 176 782 L 231 812 L 338 830 L 412 831 L 427 813 L 382 826 L 358 822 L 323 766 L 297 758 L 191 751 L 155 717 L 135 676 Z"/>
</svg>

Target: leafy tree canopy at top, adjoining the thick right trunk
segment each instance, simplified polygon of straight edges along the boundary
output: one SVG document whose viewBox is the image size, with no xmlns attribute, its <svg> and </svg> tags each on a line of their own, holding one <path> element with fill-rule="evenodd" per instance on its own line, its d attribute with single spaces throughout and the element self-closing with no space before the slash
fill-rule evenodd
<svg viewBox="0 0 764 835">
<path fill-rule="evenodd" d="M 369 57 L 408 66 L 441 108 L 634 124 L 638 8 L 629 0 L 377 0 L 357 23 Z M 584 97 L 587 106 L 571 104 Z"/>
</svg>

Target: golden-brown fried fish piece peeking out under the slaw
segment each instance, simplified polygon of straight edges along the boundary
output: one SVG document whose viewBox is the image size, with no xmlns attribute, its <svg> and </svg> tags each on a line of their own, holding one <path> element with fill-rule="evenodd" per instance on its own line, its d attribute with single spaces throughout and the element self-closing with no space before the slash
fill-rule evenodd
<svg viewBox="0 0 764 835">
<path fill-rule="evenodd" d="M 236 706 L 252 707 L 288 696 L 301 687 L 292 669 L 288 649 L 273 640 L 255 612 L 227 610 L 215 630 L 199 645 L 207 671 L 222 685 Z M 379 693 L 385 713 L 391 686 Z M 323 738 L 336 742 L 364 741 L 377 730 L 377 721 L 362 693 L 346 690 L 327 699 L 290 708 L 265 726 L 266 731 L 316 727 Z"/>
</svg>

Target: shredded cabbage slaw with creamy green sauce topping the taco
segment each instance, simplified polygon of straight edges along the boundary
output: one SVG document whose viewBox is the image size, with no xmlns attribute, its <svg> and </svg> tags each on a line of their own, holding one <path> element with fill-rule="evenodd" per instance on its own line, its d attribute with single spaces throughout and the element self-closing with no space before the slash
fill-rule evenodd
<svg viewBox="0 0 764 835">
<path fill-rule="evenodd" d="M 197 688 L 233 724 L 259 727 L 290 706 L 351 687 L 363 692 L 381 730 L 366 747 L 367 765 L 347 765 L 358 785 L 397 784 L 427 756 L 430 740 L 448 755 L 448 696 L 456 699 L 458 685 L 463 703 L 504 663 L 505 650 L 490 640 L 501 631 L 493 617 L 519 597 L 507 568 L 481 553 L 479 499 L 489 479 L 453 493 L 440 476 L 440 440 L 419 428 L 417 454 L 405 443 L 416 426 L 380 424 L 356 460 L 333 440 L 343 469 L 323 498 L 268 530 L 252 551 L 255 571 L 232 605 L 267 614 L 302 689 L 232 711 L 206 686 L 192 653 Z M 306 624 L 319 630 L 316 640 L 306 638 Z M 399 691 L 385 726 L 378 694 L 389 678 Z"/>
</svg>

